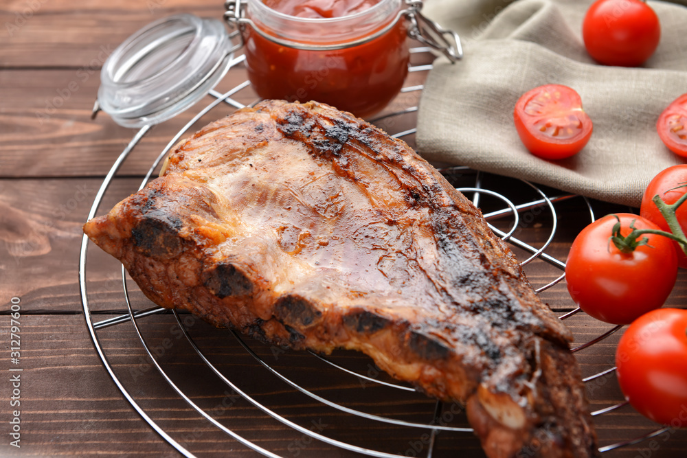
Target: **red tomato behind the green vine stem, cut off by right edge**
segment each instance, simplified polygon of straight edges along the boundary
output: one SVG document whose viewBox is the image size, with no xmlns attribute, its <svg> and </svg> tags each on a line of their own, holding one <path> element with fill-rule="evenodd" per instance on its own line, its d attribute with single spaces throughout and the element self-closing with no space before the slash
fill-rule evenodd
<svg viewBox="0 0 687 458">
<path fill-rule="evenodd" d="M 681 185 L 684 186 L 681 187 Z M 640 216 L 653 222 L 664 231 L 670 232 L 671 229 L 668 227 L 668 223 L 651 199 L 653 199 L 653 196 L 658 195 L 665 203 L 671 204 L 675 203 L 686 192 L 687 165 L 673 165 L 673 167 L 662 170 L 653 177 L 649 186 L 647 186 L 644 191 L 642 207 L 640 207 Z M 675 216 L 680 223 L 680 227 L 682 227 L 682 231 L 687 234 L 687 203 L 677 208 Z M 687 268 L 687 257 L 682 251 L 682 248 L 680 248 L 680 244 L 677 242 L 673 243 L 675 244 L 675 251 L 677 251 L 677 262 L 679 266 Z"/>
</svg>

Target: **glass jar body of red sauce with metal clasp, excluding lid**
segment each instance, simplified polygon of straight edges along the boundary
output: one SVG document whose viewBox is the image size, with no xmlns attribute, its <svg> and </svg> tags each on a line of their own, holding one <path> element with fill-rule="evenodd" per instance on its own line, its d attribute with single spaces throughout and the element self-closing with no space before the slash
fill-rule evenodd
<svg viewBox="0 0 687 458">
<path fill-rule="evenodd" d="M 379 0 L 353 14 L 315 19 L 284 14 L 262 0 L 226 5 L 225 18 L 244 43 L 249 80 L 265 99 L 316 100 L 367 117 L 401 90 L 407 36 L 453 61 L 462 54 L 458 36 L 420 14 L 421 1 Z"/>
</svg>

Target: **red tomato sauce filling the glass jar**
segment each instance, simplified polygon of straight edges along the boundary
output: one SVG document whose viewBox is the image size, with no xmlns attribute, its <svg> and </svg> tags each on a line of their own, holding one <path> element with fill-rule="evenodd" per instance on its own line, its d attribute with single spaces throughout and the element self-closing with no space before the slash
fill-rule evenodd
<svg viewBox="0 0 687 458">
<path fill-rule="evenodd" d="M 251 84 L 265 99 L 316 100 L 359 117 L 380 111 L 408 71 L 401 3 L 249 0 L 248 16 L 262 32 L 244 32 Z"/>
</svg>

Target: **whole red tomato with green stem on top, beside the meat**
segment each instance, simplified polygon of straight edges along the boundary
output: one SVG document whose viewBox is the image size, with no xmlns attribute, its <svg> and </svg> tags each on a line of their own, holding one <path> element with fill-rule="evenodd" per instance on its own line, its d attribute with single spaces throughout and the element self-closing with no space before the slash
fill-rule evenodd
<svg viewBox="0 0 687 458">
<path fill-rule="evenodd" d="M 641 216 L 620 213 L 622 236 L 637 229 L 658 229 Z M 567 290 L 587 314 L 613 324 L 631 323 L 640 315 L 663 306 L 677 278 L 673 241 L 648 234 L 648 244 L 623 253 L 609 241 L 618 222 L 607 215 L 579 233 L 565 265 Z"/>
</svg>

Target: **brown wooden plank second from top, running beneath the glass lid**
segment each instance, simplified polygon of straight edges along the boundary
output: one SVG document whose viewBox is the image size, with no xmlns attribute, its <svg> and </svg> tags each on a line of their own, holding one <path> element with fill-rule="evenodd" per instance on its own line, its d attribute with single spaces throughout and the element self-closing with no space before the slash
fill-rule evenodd
<svg viewBox="0 0 687 458">
<path fill-rule="evenodd" d="M 415 59 L 423 62 L 427 56 Z M 420 84 L 425 73 L 411 73 L 406 85 Z M 245 80 L 245 70 L 238 67 L 229 72 L 217 90 L 223 93 Z M 84 69 L 0 71 L 0 177 L 104 176 L 136 130 L 117 126 L 106 113 L 100 113 L 94 121 L 90 119 L 99 81 L 97 71 Z M 401 93 L 383 113 L 416 106 L 418 96 L 418 92 Z M 208 96 L 177 118 L 155 126 L 120 173 L 145 174 L 192 115 L 212 100 Z M 249 104 L 256 95 L 244 89 L 236 100 Z M 218 106 L 190 133 L 232 111 L 234 108 L 225 104 Z M 410 113 L 384 119 L 379 126 L 396 133 L 414 126 L 415 119 L 415 113 Z M 406 139 L 412 142 L 413 137 Z"/>
</svg>

